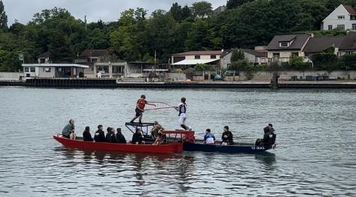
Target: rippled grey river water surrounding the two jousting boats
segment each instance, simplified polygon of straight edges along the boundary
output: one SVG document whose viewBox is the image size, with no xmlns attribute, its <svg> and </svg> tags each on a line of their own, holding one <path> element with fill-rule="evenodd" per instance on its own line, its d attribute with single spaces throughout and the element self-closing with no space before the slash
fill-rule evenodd
<svg viewBox="0 0 356 197">
<path fill-rule="evenodd" d="M 273 123 L 278 148 L 258 155 L 146 155 L 64 148 L 52 135 L 75 119 L 122 127 L 141 94 L 187 98 L 202 138 L 223 126 L 254 142 Z M 349 89 L 39 89 L 0 87 L 0 196 L 356 196 L 356 91 Z M 161 105 L 163 107 L 163 105 Z M 178 128 L 175 110 L 143 121 Z"/>
</svg>

